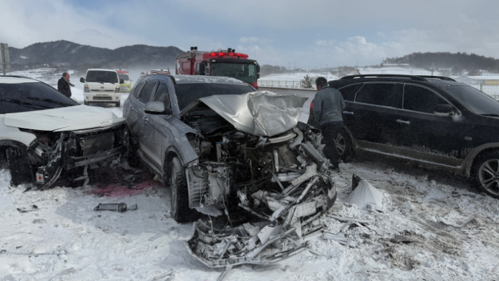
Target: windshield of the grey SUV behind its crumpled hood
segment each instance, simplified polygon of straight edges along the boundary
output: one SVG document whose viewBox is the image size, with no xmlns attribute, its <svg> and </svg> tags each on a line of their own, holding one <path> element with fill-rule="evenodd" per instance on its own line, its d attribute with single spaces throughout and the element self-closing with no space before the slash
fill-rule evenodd
<svg viewBox="0 0 499 281">
<path fill-rule="evenodd" d="M 255 91 L 252 86 L 241 84 L 175 84 L 176 99 L 179 101 L 179 108 L 183 110 L 187 105 L 199 98 L 214 95 L 239 95 L 241 93 L 251 93 Z"/>
</svg>

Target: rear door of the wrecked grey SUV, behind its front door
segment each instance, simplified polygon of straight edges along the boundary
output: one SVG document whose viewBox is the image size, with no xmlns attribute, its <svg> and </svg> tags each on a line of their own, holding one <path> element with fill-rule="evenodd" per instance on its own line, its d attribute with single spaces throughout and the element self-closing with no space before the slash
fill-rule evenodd
<svg viewBox="0 0 499 281">
<path fill-rule="evenodd" d="M 148 80 L 147 83 L 142 88 L 141 93 L 138 95 L 138 115 L 141 116 L 141 133 L 139 137 L 139 148 L 143 152 L 143 158 L 145 159 L 146 162 L 150 162 L 150 136 L 152 134 L 151 130 L 152 128 L 149 126 L 149 116 L 146 115 L 144 112 L 144 106 L 146 103 L 148 103 L 151 98 L 153 98 L 153 94 L 156 91 L 157 84 L 159 82 L 156 80 Z"/>
</svg>

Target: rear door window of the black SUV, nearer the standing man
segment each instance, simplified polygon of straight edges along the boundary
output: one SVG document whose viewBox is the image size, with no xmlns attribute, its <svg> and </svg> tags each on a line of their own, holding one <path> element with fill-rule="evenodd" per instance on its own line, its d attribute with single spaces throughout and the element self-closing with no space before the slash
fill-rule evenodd
<svg viewBox="0 0 499 281">
<path fill-rule="evenodd" d="M 357 103 L 396 107 L 397 89 L 397 84 L 394 83 L 364 84 L 362 89 L 358 91 L 355 101 Z"/>
</svg>

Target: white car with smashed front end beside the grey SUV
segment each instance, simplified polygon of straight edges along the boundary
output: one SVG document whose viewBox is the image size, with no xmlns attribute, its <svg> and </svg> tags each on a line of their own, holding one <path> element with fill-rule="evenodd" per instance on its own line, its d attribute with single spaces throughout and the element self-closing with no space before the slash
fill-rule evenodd
<svg viewBox="0 0 499 281">
<path fill-rule="evenodd" d="M 127 150 L 124 118 L 79 105 L 51 86 L 26 77 L 0 77 L 0 161 L 11 184 L 50 187 L 63 171 L 86 180 Z"/>
</svg>

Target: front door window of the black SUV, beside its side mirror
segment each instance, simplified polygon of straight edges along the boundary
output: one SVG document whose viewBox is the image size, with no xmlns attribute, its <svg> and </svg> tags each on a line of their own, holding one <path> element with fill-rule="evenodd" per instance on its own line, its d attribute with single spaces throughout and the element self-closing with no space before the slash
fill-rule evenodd
<svg viewBox="0 0 499 281">
<path fill-rule="evenodd" d="M 448 104 L 446 100 L 429 89 L 408 84 L 403 87 L 404 110 L 433 113 L 435 105 L 443 103 Z"/>
</svg>

